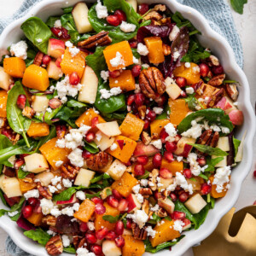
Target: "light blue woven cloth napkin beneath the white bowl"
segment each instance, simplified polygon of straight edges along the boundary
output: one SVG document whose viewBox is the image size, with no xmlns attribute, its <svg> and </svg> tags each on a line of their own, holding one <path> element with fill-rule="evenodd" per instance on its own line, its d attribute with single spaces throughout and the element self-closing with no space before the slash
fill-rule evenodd
<svg viewBox="0 0 256 256">
<path fill-rule="evenodd" d="M 0 32 L 13 20 L 17 20 L 21 16 L 26 15 L 27 11 L 32 8 L 33 5 L 41 1 L 42 0 L 25 0 L 15 15 L 0 19 Z M 225 0 L 177 0 L 177 2 L 200 11 L 201 14 L 207 18 L 212 29 L 228 40 L 235 52 L 237 64 L 240 67 L 243 66 L 241 41 L 230 12 L 230 6 Z M 7 252 L 13 256 L 32 256 L 32 254 L 25 253 L 17 247 L 10 237 L 7 238 L 5 245 Z"/>
</svg>

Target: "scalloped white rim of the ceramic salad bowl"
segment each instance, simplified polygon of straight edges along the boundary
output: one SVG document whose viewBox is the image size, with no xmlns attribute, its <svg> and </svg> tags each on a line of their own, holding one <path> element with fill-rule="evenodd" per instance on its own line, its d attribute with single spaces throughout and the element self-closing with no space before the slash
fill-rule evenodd
<svg viewBox="0 0 256 256">
<path fill-rule="evenodd" d="M 228 62 L 230 63 L 230 67 L 232 67 L 232 69 L 236 70 L 236 73 L 239 73 L 241 80 L 242 80 L 242 87 L 244 88 L 244 98 L 250 99 L 250 87 L 247 81 L 247 77 L 245 75 L 245 73 L 242 71 L 241 67 L 238 66 L 238 64 L 236 63 L 236 59 L 235 59 L 235 54 L 233 52 L 233 49 L 231 49 L 230 44 L 227 42 L 227 40 L 218 34 L 218 32 L 215 32 L 212 30 L 212 27 L 209 25 L 207 19 L 201 15 L 200 12 L 198 12 L 196 9 L 193 9 L 189 6 L 183 5 L 181 3 L 177 3 L 177 0 L 149 0 L 151 3 L 161 3 L 161 2 L 166 2 L 169 3 L 170 5 L 172 4 L 172 6 L 175 7 L 175 9 L 177 9 L 177 11 L 181 12 L 181 13 L 188 13 L 188 14 L 192 14 L 193 16 L 195 16 L 195 19 L 198 20 L 198 22 L 201 23 L 201 32 L 204 33 L 204 37 L 205 38 L 214 38 L 214 40 L 218 41 L 218 44 L 221 44 L 222 47 L 227 51 L 228 53 Z M 142 0 L 142 1 L 137 1 L 140 3 L 147 3 L 149 2 L 147 0 Z M 70 3 L 66 2 L 67 6 L 71 6 L 73 5 L 73 3 L 78 3 L 79 0 L 71 0 L 69 1 Z M 96 2 L 96 1 L 85 1 L 85 2 Z M 4 42 L 4 38 L 9 34 L 9 32 L 13 29 L 17 29 L 20 28 L 20 25 L 22 24 L 22 22 L 24 22 L 26 19 L 28 19 L 31 16 L 34 15 L 38 15 L 38 13 L 40 12 L 40 9 L 44 9 L 45 7 L 47 7 L 50 4 L 54 4 L 54 3 L 64 3 L 63 0 L 44 0 L 42 2 L 36 3 L 27 13 L 26 15 L 20 17 L 18 20 L 14 20 L 13 22 L 11 22 L 9 24 L 9 26 L 6 26 L 0 36 L 0 49 L 3 47 L 3 42 Z M 247 143 L 245 143 L 244 148 L 247 148 L 247 159 L 243 159 L 243 169 L 244 172 L 242 172 L 240 178 L 240 182 L 236 183 L 236 190 L 235 190 L 235 194 L 232 195 L 232 197 L 230 198 L 230 201 L 226 204 L 226 207 L 224 207 L 222 209 L 222 211 L 218 212 L 218 215 L 216 216 L 215 214 L 215 218 L 212 219 L 212 223 L 210 225 L 210 227 L 208 228 L 208 230 L 204 230 L 204 232 L 201 232 L 201 234 L 199 234 L 199 236 L 193 237 L 191 239 L 191 241 L 188 241 L 186 244 L 183 245 L 183 247 L 178 247 L 178 244 L 176 247 L 173 247 L 174 250 L 173 251 L 173 256 L 174 255 L 181 255 L 182 253 L 185 253 L 189 247 L 194 246 L 196 243 L 202 241 L 203 239 L 205 239 L 207 236 L 209 236 L 213 230 L 215 230 L 215 228 L 218 225 L 218 222 L 220 221 L 220 219 L 224 216 L 224 214 L 226 212 L 228 212 L 230 210 L 231 207 L 234 206 L 234 204 L 236 203 L 236 200 L 238 199 L 238 196 L 240 195 L 240 191 L 241 191 L 241 183 L 243 182 L 243 180 L 245 179 L 245 177 L 247 177 L 247 174 L 250 172 L 252 163 L 253 163 L 253 150 L 251 150 L 251 148 L 253 148 L 253 137 L 254 137 L 254 133 L 255 133 L 255 116 L 254 116 L 254 111 L 253 111 L 253 107 L 250 101 L 244 101 L 243 102 L 245 105 L 245 108 L 247 109 L 247 113 L 248 113 L 248 119 L 250 119 L 251 122 L 251 126 L 247 127 Z M 249 128 L 249 129 L 248 129 Z M 31 248 L 26 242 L 20 241 L 19 237 L 15 234 L 14 230 L 12 229 L 11 225 L 8 224 L 9 221 L 11 221 L 9 218 L 9 221 L 6 220 L 7 218 L 0 218 L 0 227 L 3 228 L 3 230 L 5 230 L 9 236 L 13 239 L 13 241 L 15 241 L 15 244 L 22 248 L 24 251 L 26 251 L 27 253 L 32 253 L 35 255 L 40 255 L 42 256 L 43 254 L 41 252 L 35 252 L 34 248 Z M 198 234 L 197 234 L 198 235 Z M 24 236 L 24 235 L 23 235 Z M 44 254 L 45 256 L 48 255 L 46 252 Z M 62 255 L 70 255 L 67 253 L 62 253 Z M 160 253 L 159 253 L 160 255 Z"/>
</svg>

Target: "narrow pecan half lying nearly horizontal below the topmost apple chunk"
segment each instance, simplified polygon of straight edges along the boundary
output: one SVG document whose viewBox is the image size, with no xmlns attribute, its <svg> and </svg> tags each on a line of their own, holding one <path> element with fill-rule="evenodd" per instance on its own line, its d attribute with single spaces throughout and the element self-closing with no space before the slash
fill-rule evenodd
<svg viewBox="0 0 256 256">
<path fill-rule="evenodd" d="M 84 41 L 79 42 L 78 45 L 81 48 L 91 49 L 95 48 L 96 46 L 104 46 L 111 44 L 111 42 L 112 39 L 108 37 L 108 32 L 102 31 L 94 36 L 91 36 L 88 39 L 85 39 Z"/>
</svg>

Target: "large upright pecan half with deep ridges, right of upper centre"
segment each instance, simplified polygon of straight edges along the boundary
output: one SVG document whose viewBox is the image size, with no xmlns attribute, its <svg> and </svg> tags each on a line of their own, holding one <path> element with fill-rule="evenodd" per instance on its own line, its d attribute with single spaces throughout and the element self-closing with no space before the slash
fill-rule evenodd
<svg viewBox="0 0 256 256">
<path fill-rule="evenodd" d="M 156 93 L 162 95 L 166 91 L 163 74 L 156 67 L 143 69 L 139 76 L 140 88 L 148 98 L 155 99 Z"/>
</svg>

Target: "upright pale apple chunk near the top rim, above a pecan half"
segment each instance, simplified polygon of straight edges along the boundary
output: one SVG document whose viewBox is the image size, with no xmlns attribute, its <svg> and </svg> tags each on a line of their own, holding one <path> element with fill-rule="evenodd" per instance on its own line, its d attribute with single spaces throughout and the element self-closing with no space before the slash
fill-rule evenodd
<svg viewBox="0 0 256 256">
<path fill-rule="evenodd" d="M 92 26 L 88 20 L 88 7 L 86 3 L 77 3 L 73 8 L 72 15 L 79 33 L 92 31 Z"/>
</svg>

